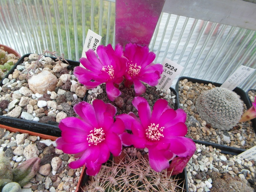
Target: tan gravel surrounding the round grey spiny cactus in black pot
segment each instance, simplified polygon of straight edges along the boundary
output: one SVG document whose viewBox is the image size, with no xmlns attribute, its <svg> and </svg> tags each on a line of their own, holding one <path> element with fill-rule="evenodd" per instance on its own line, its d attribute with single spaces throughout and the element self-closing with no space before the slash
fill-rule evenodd
<svg viewBox="0 0 256 192">
<path fill-rule="evenodd" d="M 187 79 L 179 81 L 179 101 L 180 108 L 186 111 L 189 138 L 195 140 L 218 143 L 230 147 L 249 149 L 256 145 L 255 134 L 252 122 L 238 123 L 229 131 L 215 129 L 211 124 L 207 124 L 198 115 L 196 110 L 196 99 L 203 91 L 210 90 L 215 86 L 212 84 L 192 83 Z M 247 110 L 244 104 L 244 111 Z"/>
</svg>

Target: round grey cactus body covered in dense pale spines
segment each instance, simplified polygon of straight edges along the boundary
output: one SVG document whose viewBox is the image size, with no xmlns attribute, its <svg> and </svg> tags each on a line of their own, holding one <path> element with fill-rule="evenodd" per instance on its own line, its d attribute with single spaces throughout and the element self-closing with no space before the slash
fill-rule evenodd
<svg viewBox="0 0 256 192">
<path fill-rule="evenodd" d="M 225 131 L 236 126 L 243 114 L 243 102 L 239 96 L 222 87 L 201 93 L 196 100 L 196 108 L 203 120 Z"/>
</svg>

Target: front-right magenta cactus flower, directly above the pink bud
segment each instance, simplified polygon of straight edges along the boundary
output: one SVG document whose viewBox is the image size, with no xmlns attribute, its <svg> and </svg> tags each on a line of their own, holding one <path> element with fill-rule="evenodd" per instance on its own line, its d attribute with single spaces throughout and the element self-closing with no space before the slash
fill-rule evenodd
<svg viewBox="0 0 256 192">
<path fill-rule="evenodd" d="M 176 155 L 187 157 L 194 154 L 196 144 L 184 137 L 188 128 L 186 113 L 182 109 L 175 111 L 163 99 L 156 101 L 152 113 L 148 101 L 142 97 L 135 97 L 132 104 L 140 119 L 132 112 L 116 116 L 124 122 L 125 129 L 133 133 L 121 135 L 123 145 L 148 148 L 149 164 L 156 172 L 168 168 L 169 161 Z"/>
</svg>

